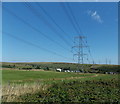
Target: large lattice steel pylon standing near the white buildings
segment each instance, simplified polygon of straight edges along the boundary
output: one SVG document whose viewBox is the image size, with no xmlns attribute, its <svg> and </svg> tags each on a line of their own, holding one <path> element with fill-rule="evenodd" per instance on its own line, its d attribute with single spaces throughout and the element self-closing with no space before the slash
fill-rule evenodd
<svg viewBox="0 0 120 104">
<path fill-rule="evenodd" d="M 81 70 L 82 72 L 84 72 L 84 67 L 83 67 L 84 56 L 87 55 L 84 53 L 84 48 L 88 47 L 87 45 L 84 44 L 84 39 L 85 36 L 74 37 L 74 46 L 72 47 L 72 49 L 74 49 L 76 52 L 75 54 L 73 54 L 73 58 L 75 56 L 78 57 L 78 70 Z"/>
</svg>

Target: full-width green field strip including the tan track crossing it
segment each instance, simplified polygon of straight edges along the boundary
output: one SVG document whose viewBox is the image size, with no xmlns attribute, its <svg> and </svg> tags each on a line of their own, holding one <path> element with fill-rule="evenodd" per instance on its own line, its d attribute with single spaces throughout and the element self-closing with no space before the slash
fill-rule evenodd
<svg viewBox="0 0 120 104">
<path fill-rule="evenodd" d="M 97 76 L 95 76 L 97 75 Z M 73 77 L 73 78 L 72 78 Z M 2 82 L 5 83 L 33 83 L 33 82 L 61 82 L 74 80 L 99 80 L 117 78 L 118 75 L 109 74 L 79 74 L 55 71 L 22 71 L 22 70 L 2 70 Z"/>
</svg>

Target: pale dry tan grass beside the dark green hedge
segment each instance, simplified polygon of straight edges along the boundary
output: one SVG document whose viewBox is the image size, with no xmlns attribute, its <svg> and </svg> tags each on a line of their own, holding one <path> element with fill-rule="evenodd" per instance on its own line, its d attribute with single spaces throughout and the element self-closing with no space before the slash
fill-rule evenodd
<svg viewBox="0 0 120 104">
<path fill-rule="evenodd" d="M 20 102 L 18 97 L 27 93 L 42 92 L 49 86 L 42 83 L 6 84 L 2 86 L 2 102 Z"/>
</svg>

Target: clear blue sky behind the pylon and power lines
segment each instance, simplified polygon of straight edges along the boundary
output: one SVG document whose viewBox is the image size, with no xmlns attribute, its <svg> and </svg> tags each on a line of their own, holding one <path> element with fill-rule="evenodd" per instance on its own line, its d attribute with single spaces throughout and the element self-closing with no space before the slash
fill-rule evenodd
<svg viewBox="0 0 120 104">
<path fill-rule="evenodd" d="M 4 62 L 74 62 L 74 37 L 84 35 L 84 63 L 118 63 L 116 2 L 4 2 L 2 29 Z"/>
</svg>

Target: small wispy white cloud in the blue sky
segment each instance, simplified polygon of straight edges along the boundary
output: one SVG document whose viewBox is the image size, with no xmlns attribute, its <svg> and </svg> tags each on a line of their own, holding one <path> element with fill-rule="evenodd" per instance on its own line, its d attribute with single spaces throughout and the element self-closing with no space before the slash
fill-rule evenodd
<svg viewBox="0 0 120 104">
<path fill-rule="evenodd" d="M 100 15 L 97 13 L 97 11 L 91 11 L 89 10 L 88 15 L 92 17 L 92 19 L 96 20 L 99 23 L 103 23 L 103 20 L 101 19 Z"/>
</svg>

